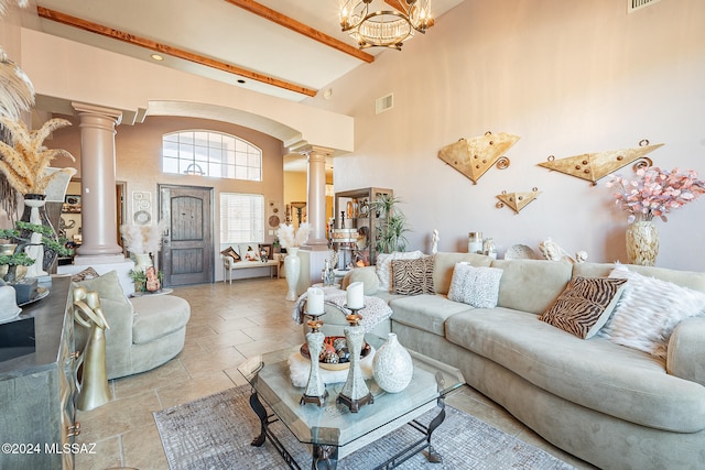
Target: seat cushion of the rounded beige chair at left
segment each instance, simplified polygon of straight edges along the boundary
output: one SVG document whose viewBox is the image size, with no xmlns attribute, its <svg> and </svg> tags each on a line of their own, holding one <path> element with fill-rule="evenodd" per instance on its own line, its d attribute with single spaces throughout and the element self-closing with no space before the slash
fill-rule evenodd
<svg viewBox="0 0 705 470">
<path fill-rule="evenodd" d="M 188 303 L 175 295 L 143 295 L 131 302 L 134 306 L 132 342 L 135 345 L 184 328 L 191 316 Z"/>
</svg>

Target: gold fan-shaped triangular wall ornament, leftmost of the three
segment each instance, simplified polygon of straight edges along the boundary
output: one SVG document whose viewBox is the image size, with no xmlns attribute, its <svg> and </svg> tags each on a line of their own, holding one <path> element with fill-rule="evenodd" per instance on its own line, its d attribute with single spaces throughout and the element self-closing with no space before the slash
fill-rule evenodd
<svg viewBox="0 0 705 470">
<path fill-rule="evenodd" d="M 458 172 L 477 181 L 492 166 L 506 170 L 510 161 L 502 156 L 520 138 L 518 135 L 500 132 L 476 136 L 469 141 L 460 139 L 456 143 L 444 146 L 438 152 L 438 159 L 453 166 Z"/>
</svg>

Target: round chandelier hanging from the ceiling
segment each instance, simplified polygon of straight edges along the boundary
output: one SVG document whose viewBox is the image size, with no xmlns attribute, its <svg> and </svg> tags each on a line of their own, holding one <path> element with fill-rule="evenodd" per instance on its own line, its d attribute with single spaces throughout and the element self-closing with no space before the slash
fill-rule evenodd
<svg viewBox="0 0 705 470">
<path fill-rule="evenodd" d="M 372 3 L 381 4 L 370 9 Z M 340 0 L 340 28 L 360 48 L 401 51 L 414 32 L 425 33 L 433 24 L 431 0 Z"/>
</svg>

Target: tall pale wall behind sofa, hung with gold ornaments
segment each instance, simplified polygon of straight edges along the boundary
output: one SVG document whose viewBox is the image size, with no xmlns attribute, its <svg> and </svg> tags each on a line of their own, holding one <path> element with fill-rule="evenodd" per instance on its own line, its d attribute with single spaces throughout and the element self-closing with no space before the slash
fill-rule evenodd
<svg viewBox="0 0 705 470">
<path fill-rule="evenodd" d="M 626 262 L 627 214 L 612 190 L 539 167 L 556 159 L 665 145 L 654 165 L 705 177 L 705 2 L 663 0 L 627 15 L 621 0 L 466 0 L 402 52 L 332 84 L 333 97 L 308 105 L 355 118 L 355 152 L 336 157 L 335 188 L 391 187 L 426 252 L 465 251 L 467 232 L 494 237 L 500 254 L 552 237 L 590 261 Z M 375 114 L 375 99 L 394 108 Z M 437 152 L 486 131 L 521 140 L 508 170 L 474 185 Z M 631 174 L 629 167 L 620 171 Z M 502 190 L 543 192 L 519 215 L 498 209 Z M 658 222 L 658 265 L 705 270 L 705 200 Z"/>
</svg>

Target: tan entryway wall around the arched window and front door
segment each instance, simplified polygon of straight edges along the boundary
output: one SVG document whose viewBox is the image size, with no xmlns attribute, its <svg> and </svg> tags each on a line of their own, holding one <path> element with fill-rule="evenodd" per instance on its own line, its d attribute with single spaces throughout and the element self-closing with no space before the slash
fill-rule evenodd
<svg viewBox="0 0 705 470">
<path fill-rule="evenodd" d="M 54 133 L 46 144 L 51 147 L 66 149 L 76 156 L 74 165 L 66 159 L 56 160 L 54 166 L 75 166 L 80 168 L 80 129 L 75 119 L 74 125 Z M 219 179 L 205 176 L 176 175 L 161 172 L 162 135 L 181 130 L 213 130 L 237 135 L 262 150 L 262 182 L 243 182 L 238 179 Z M 183 185 L 214 188 L 214 217 L 219 217 L 219 194 L 249 193 L 264 195 L 265 205 L 270 201 L 281 203 L 283 199 L 283 147 L 281 141 L 263 133 L 239 125 L 218 121 L 193 118 L 149 117 L 144 123 L 137 125 L 118 125 L 116 135 L 116 178 L 127 182 L 127 212 L 130 217 L 135 208 L 132 207 L 133 192 L 149 192 L 154 210 L 152 217 L 158 216 L 158 185 Z M 80 172 L 76 175 L 80 178 Z M 128 217 L 128 218 L 129 218 Z M 219 245 L 219 232 L 216 230 L 216 248 Z M 273 241 L 274 237 L 265 231 L 265 241 Z M 217 250 L 219 251 L 219 250 Z M 216 263 L 219 266 L 219 263 Z"/>
</svg>

